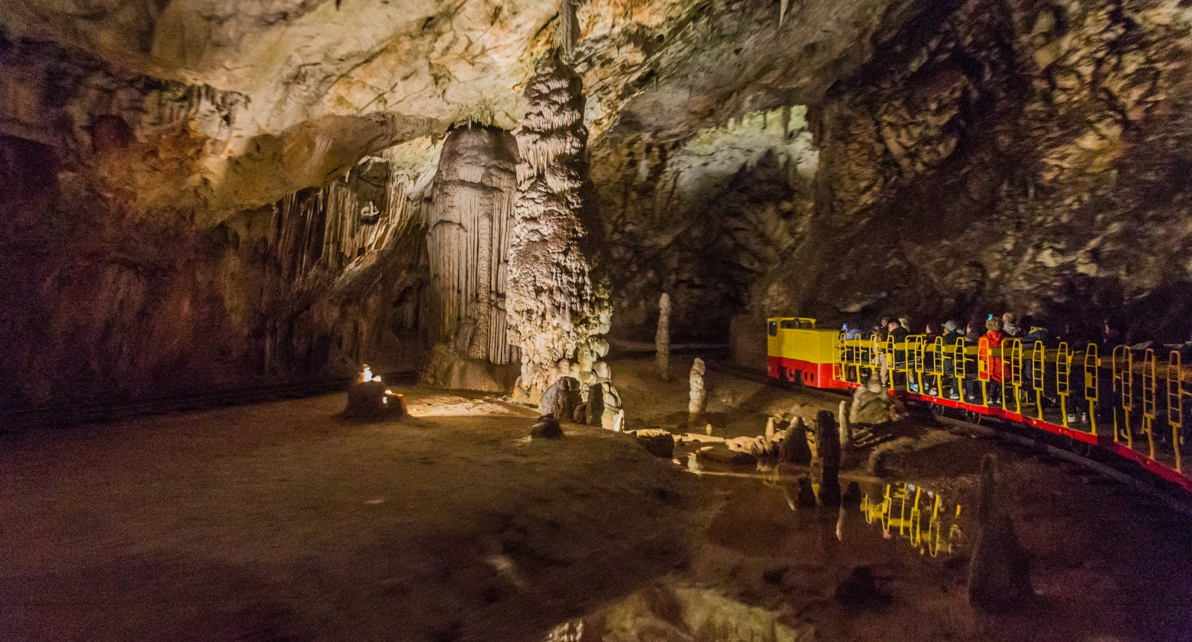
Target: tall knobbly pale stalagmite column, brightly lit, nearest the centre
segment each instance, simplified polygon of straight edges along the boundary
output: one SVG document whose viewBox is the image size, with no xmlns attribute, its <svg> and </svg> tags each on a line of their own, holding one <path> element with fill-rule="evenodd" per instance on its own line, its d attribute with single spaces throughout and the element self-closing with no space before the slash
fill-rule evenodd
<svg viewBox="0 0 1192 642">
<path fill-rule="evenodd" d="M 536 404 L 564 375 L 586 388 L 608 381 L 608 286 L 594 279 L 583 217 L 584 95 L 579 76 L 557 55 L 544 60 L 522 94 L 515 132 L 517 201 L 509 247 L 509 322 L 522 350 L 519 401 Z"/>
</svg>

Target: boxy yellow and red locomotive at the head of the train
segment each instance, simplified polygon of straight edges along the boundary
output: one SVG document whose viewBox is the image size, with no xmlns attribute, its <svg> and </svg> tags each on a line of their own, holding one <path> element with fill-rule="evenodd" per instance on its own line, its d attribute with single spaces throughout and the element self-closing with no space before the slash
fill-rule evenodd
<svg viewBox="0 0 1192 642">
<path fill-rule="evenodd" d="M 840 334 L 815 319 L 774 317 L 766 323 L 766 369 L 775 379 L 817 388 L 848 388 L 832 376 Z"/>
</svg>

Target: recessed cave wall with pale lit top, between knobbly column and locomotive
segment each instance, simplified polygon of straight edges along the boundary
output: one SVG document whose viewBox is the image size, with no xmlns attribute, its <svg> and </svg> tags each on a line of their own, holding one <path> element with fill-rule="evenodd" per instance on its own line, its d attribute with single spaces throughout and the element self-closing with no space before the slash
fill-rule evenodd
<svg viewBox="0 0 1192 642">
<path fill-rule="evenodd" d="M 671 297 L 677 342 L 724 342 L 750 286 L 812 213 L 818 154 L 802 106 L 681 141 L 607 136 L 591 152 L 613 272 L 611 335 L 651 341 Z"/>
</svg>

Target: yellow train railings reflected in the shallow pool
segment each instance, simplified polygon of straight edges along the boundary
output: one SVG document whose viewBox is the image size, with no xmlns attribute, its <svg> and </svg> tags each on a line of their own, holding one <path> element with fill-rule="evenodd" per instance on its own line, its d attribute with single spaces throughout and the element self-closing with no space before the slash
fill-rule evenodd
<svg viewBox="0 0 1192 642">
<path fill-rule="evenodd" d="M 926 494 L 926 498 L 923 495 Z M 931 512 L 927 515 L 927 532 L 923 532 L 923 509 L 930 505 Z M 923 551 L 926 550 L 935 557 L 939 551 L 951 554 L 961 538 L 961 526 L 956 519 L 961 516 L 961 505 L 956 504 L 952 522 L 948 526 L 948 535 L 944 535 L 944 519 L 950 511 L 944 509 L 943 495 L 932 491 L 925 491 L 914 484 L 899 484 L 896 486 L 887 484 L 881 503 L 871 501 L 865 494 L 861 501 L 861 512 L 865 516 L 867 523 L 880 523 L 882 536 L 906 540 L 912 547 Z M 926 541 L 924 541 L 926 540 Z"/>
</svg>

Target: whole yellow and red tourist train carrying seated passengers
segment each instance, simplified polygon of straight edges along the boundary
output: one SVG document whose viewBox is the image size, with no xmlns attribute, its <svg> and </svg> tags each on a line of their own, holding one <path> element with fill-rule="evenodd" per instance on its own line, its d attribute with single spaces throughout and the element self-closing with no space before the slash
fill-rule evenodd
<svg viewBox="0 0 1192 642">
<path fill-rule="evenodd" d="M 989 417 L 1043 430 L 1085 444 L 1086 455 L 1091 448 L 1116 454 L 1192 492 L 1181 453 L 1192 372 L 1179 350 L 1115 345 L 1101 355 L 1095 343 L 1045 348 L 1013 337 L 997 347 L 985 338 L 949 344 L 924 335 L 901 343 L 848 339 L 806 317 L 774 317 L 766 330 L 774 379 L 851 389 L 883 372 L 889 394 L 932 404 L 937 412 L 956 409 L 970 420 Z M 945 395 L 948 387 L 958 398 Z"/>
</svg>

